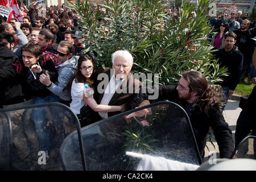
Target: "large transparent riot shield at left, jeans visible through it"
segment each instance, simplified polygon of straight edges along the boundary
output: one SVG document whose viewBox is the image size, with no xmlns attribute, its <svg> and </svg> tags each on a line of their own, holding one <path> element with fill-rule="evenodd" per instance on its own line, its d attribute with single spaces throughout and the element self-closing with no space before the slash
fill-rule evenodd
<svg viewBox="0 0 256 182">
<path fill-rule="evenodd" d="M 2 158 L 0 164 L 6 163 L 9 166 L 7 170 L 63 170 L 61 143 L 74 131 L 81 135 L 76 114 L 57 102 L 1 109 L 0 119 L 1 125 L 2 121 L 11 125 L 10 131 L 0 126 L 0 135 L 3 134 L 1 138 L 5 139 L 5 144 L 1 144 L 0 156 L 10 156 L 9 164 Z M 81 137 L 77 140 L 75 152 L 80 157 L 81 168 L 85 169 Z M 10 150 L 6 148 L 9 145 Z M 5 150 L 2 150 L 4 147 Z"/>
</svg>

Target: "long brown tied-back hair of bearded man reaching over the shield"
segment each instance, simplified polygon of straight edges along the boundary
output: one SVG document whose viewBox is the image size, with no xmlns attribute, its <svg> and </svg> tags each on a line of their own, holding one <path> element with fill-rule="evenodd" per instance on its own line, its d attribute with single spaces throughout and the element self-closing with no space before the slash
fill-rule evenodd
<svg viewBox="0 0 256 182">
<path fill-rule="evenodd" d="M 205 76 L 197 71 L 188 71 L 183 73 L 183 78 L 188 81 L 189 88 L 197 92 L 199 96 L 196 105 L 201 111 L 208 114 L 210 108 L 221 111 L 221 92 L 216 92 L 216 85 L 208 84 Z"/>
</svg>

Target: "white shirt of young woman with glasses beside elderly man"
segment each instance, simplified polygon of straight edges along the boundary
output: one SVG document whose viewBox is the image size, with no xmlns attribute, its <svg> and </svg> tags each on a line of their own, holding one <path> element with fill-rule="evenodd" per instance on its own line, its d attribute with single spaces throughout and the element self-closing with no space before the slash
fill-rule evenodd
<svg viewBox="0 0 256 182">
<path fill-rule="evenodd" d="M 84 93 L 84 84 L 75 82 L 75 79 L 72 82 L 71 87 L 71 98 L 72 102 L 70 104 L 70 108 L 76 113 L 80 114 L 80 109 L 86 103 L 82 100 L 82 94 Z"/>
</svg>

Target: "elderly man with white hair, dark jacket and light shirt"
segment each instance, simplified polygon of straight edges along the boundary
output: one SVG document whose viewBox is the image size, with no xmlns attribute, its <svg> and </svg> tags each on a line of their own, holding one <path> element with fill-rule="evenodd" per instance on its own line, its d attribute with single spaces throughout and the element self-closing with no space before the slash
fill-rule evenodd
<svg viewBox="0 0 256 182">
<path fill-rule="evenodd" d="M 106 68 L 98 75 L 97 90 L 94 98 L 98 104 L 102 105 L 122 105 L 134 109 L 141 105 L 149 104 L 145 98 L 140 98 L 139 90 L 142 82 L 133 77 L 130 73 L 133 67 L 133 56 L 127 50 L 115 51 L 112 54 L 113 69 Z M 143 104 L 142 104 L 142 101 Z M 104 113 L 98 112 L 100 118 L 105 119 L 118 112 Z"/>
</svg>

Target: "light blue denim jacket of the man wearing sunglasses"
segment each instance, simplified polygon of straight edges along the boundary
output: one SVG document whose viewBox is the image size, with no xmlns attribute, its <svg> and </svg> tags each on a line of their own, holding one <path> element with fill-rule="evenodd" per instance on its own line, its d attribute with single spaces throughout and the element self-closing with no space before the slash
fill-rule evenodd
<svg viewBox="0 0 256 182">
<path fill-rule="evenodd" d="M 71 59 L 64 61 L 57 66 L 57 72 L 59 74 L 58 81 L 51 84 L 48 89 L 59 96 L 64 101 L 71 100 L 71 92 L 68 90 L 63 91 L 63 88 L 67 85 L 68 81 L 76 72 L 77 57 L 73 56 Z"/>
</svg>

